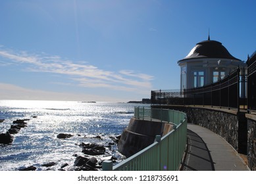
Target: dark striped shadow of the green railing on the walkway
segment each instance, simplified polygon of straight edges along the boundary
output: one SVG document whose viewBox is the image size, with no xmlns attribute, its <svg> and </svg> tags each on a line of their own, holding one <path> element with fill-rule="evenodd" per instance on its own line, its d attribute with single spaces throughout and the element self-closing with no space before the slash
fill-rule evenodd
<svg viewBox="0 0 256 184">
<path fill-rule="evenodd" d="M 187 139 L 186 154 L 180 170 L 215 171 L 215 163 L 211 158 L 211 152 L 207 148 L 203 139 L 190 129 L 188 129 Z"/>
</svg>

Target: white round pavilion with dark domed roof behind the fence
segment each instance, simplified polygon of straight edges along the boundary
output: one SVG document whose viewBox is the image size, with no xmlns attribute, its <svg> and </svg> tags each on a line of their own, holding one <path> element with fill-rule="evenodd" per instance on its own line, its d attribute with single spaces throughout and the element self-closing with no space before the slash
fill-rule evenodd
<svg viewBox="0 0 256 184">
<path fill-rule="evenodd" d="M 242 60 L 230 55 L 218 41 L 201 41 L 188 56 L 178 61 L 180 66 L 180 89 L 191 89 L 214 83 L 238 68 L 246 67 Z"/>
</svg>

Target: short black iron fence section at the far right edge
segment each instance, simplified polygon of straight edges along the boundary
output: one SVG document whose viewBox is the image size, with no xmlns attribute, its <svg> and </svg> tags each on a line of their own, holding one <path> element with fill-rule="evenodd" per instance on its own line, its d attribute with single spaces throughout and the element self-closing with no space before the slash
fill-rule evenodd
<svg viewBox="0 0 256 184">
<path fill-rule="evenodd" d="M 247 59 L 248 110 L 256 110 L 256 52 Z"/>
</svg>

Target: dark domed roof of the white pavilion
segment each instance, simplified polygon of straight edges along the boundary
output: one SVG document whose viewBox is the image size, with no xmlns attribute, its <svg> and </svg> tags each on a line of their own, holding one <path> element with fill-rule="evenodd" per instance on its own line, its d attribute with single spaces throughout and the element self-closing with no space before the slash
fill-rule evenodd
<svg viewBox="0 0 256 184">
<path fill-rule="evenodd" d="M 197 43 L 195 47 L 193 47 L 193 49 L 190 51 L 188 56 L 186 56 L 182 60 L 187 60 L 191 58 L 228 58 L 240 60 L 230 55 L 230 53 L 222 45 L 222 43 L 210 39 Z"/>
</svg>

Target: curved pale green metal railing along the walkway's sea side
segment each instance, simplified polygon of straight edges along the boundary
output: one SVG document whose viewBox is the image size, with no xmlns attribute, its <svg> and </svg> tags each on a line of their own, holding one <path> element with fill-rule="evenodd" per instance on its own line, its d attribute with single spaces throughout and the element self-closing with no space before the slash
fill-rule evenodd
<svg viewBox="0 0 256 184">
<path fill-rule="evenodd" d="M 103 170 L 178 170 L 186 149 L 186 114 L 176 110 L 136 107 L 134 109 L 134 118 L 161 121 L 175 126 L 164 137 L 157 135 L 155 143 L 115 166 L 110 160 L 104 161 Z"/>
</svg>

